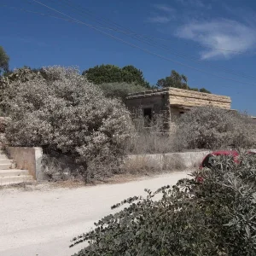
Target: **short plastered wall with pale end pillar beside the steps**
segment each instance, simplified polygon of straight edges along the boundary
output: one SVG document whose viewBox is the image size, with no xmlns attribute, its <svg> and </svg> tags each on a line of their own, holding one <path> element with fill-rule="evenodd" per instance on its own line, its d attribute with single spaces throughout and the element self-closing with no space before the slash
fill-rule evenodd
<svg viewBox="0 0 256 256">
<path fill-rule="evenodd" d="M 18 169 L 27 170 L 37 181 L 44 180 L 41 170 L 42 148 L 6 147 L 6 151 Z"/>
</svg>

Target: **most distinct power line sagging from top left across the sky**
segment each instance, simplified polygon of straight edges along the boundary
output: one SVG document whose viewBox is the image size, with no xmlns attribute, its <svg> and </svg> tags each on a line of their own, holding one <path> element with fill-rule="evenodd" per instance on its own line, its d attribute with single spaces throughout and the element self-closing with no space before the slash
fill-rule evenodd
<svg viewBox="0 0 256 256">
<path fill-rule="evenodd" d="M 239 84 L 249 84 L 249 85 L 253 85 L 253 86 L 256 85 L 256 84 L 251 84 L 251 83 L 247 83 L 247 82 L 241 82 L 241 81 L 238 81 L 238 80 L 236 80 L 236 79 L 225 78 L 225 77 L 223 77 L 223 76 L 219 76 L 218 74 L 209 73 L 209 72 L 207 72 L 207 71 L 205 71 L 205 70 L 201 70 L 201 69 L 199 69 L 199 68 L 189 66 L 189 65 L 184 64 L 184 63 L 182 63 L 182 62 L 180 62 L 180 61 L 174 61 L 174 60 L 172 60 L 172 59 L 170 59 L 170 58 L 167 58 L 167 57 L 165 57 L 165 56 L 163 56 L 163 55 L 156 54 L 156 53 L 154 53 L 154 52 L 152 52 L 152 51 L 150 51 L 150 50 L 148 50 L 148 49 L 144 49 L 144 48 L 142 48 L 142 47 L 140 47 L 140 46 L 137 46 L 136 44 L 131 44 L 130 42 L 127 42 L 127 41 L 125 41 L 125 40 L 123 40 L 123 39 L 121 39 L 121 38 L 117 38 L 117 37 L 113 36 L 112 34 L 109 34 L 108 32 L 103 32 L 102 30 L 96 28 L 95 26 L 92 26 L 92 25 L 90 25 L 90 24 L 84 23 L 83 21 L 77 20 L 77 19 L 73 18 L 72 16 L 66 15 L 66 14 L 62 13 L 61 11 L 59 11 L 59 10 L 57 10 L 57 9 L 54 9 L 54 8 L 51 8 L 51 7 L 49 7 L 48 5 L 46 5 L 46 4 L 44 4 L 44 3 L 41 3 L 41 2 L 39 2 L 39 1 L 37 1 L 37 0 L 32 0 L 32 1 L 35 2 L 35 3 L 41 4 L 42 6 L 48 8 L 48 9 L 54 10 L 55 12 L 57 12 L 57 13 L 59 13 L 59 14 L 61 14 L 61 15 L 67 16 L 67 18 L 69 18 L 69 19 L 76 20 L 79 24 L 83 24 L 84 26 L 88 26 L 88 27 L 90 27 L 91 29 L 96 30 L 97 32 L 101 32 L 102 34 L 107 35 L 107 36 L 110 37 L 110 38 L 114 38 L 115 40 L 121 42 L 122 44 L 127 44 L 127 45 L 129 45 L 129 46 L 131 46 L 132 48 L 135 48 L 135 49 L 140 49 L 140 50 L 142 50 L 143 52 L 148 53 L 149 55 L 157 56 L 157 57 L 159 57 L 159 58 L 161 58 L 161 59 L 163 59 L 163 60 L 166 60 L 166 61 L 172 61 L 172 62 L 177 63 L 177 64 L 179 64 L 179 65 L 181 65 L 181 66 L 183 66 L 183 67 L 189 67 L 189 68 L 194 69 L 194 70 L 196 70 L 196 71 L 199 71 L 199 72 L 201 72 L 201 73 L 207 73 L 207 74 L 210 74 L 210 75 L 212 75 L 212 76 L 214 76 L 214 77 L 217 77 L 217 78 L 220 78 L 220 79 L 230 80 L 230 81 L 233 81 L 233 82 L 236 82 L 236 83 L 239 83 Z"/>
</svg>

